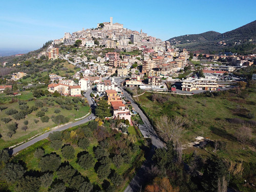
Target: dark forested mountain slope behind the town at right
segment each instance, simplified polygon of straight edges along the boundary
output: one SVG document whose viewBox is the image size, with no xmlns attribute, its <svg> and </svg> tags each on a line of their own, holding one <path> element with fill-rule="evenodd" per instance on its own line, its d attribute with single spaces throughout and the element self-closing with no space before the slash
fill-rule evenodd
<svg viewBox="0 0 256 192">
<path fill-rule="evenodd" d="M 252 53 L 256 43 L 256 20 L 240 28 L 218 33 L 208 31 L 201 34 L 190 34 L 168 39 L 172 45 L 178 48 L 186 48 L 189 51 L 205 53 L 217 53 L 233 51 L 237 53 Z"/>
</svg>

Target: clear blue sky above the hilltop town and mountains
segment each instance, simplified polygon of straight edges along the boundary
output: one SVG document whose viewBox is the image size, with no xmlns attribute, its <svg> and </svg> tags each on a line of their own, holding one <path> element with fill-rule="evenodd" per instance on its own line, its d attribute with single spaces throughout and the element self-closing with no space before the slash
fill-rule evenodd
<svg viewBox="0 0 256 192">
<path fill-rule="evenodd" d="M 256 1 L 1 1 L 0 50 L 35 50 L 65 32 L 121 23 L 125 28 L 169 38 L 206 31 L 220 33 L 256 20 Z"/>
</svg>

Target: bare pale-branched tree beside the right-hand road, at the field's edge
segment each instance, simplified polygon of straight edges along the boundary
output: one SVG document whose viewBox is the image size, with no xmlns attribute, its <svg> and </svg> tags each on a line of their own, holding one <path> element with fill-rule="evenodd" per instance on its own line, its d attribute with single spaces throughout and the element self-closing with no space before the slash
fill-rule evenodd
<svg viewBox="0 0 256 192">
<path fill-rule="evenodd" d="M 161 136 L 167 142 L 170 140 L 179 139 L 185 123 L 186 121 L 180 116 L 176 116 L 171 119 L 167 115 L 162 115 L 156 124 Z"/>
</svg>

